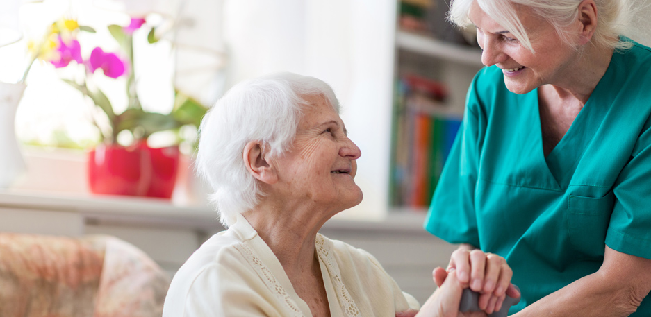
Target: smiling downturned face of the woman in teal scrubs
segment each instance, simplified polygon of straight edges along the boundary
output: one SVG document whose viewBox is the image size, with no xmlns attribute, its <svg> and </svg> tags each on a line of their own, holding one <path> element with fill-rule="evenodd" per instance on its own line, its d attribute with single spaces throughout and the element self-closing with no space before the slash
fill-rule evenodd
<svg viewBox="0 0 651 317">
<path fill-rule="evenodd" d="M 475 1 L 468 17 L 477 26 L 477 42 L 484 50 L 481 62 L 500 67 L 506 88 L 516 94 L 526 94 L 541 85 L 563 85 L 570 78 L 568 72 L 573 71 L 570 66 L 579 56 L 577 51 L 561 40 L 551 24 L 527 8 L 518 10 L 518 16 L 535 55 L 520 45 L 509 30 L 486 15 Z"/>
</svg>

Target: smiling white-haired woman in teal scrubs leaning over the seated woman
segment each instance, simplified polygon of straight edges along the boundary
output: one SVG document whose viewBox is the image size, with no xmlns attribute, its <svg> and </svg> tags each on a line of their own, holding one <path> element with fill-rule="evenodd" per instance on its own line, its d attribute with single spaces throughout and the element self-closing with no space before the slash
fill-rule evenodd
<svg viewBox="0 0 651 317">
<path fill-rule="evenodd" d="M 452 2 L 487 67 L 425 229 L 475 291 L 504 292 L 472 248 L 506 258 L 514 316 L 651 316 L 651 49 L 616 30 L 625 1 L 514 2 Z"/>
</svg>

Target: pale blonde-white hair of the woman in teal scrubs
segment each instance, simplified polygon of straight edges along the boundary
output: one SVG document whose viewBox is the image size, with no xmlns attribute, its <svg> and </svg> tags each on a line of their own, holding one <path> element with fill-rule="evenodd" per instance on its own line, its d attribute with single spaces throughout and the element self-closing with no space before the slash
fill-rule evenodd
<svg viewBox="0 0 651 317">
<path fill-rule="evenodd" d="M 477 1 L 481 10 L 495 22 L 509 30 L 522 46 L 534 52 L 522 21 L 518 17 L 516 6 L 526 6 L 534 14 L 550 22 L 566 44 L 570 43 L 568 26 L 578 17 L 581 0 L 452 0 L 448 19 L 462 28 L 472 25 L 468 19 L 468 11 L 472 3 Z M 596 46 L 612 49 L 628 49 L 630 42 L 620 42 L 619 36 L 628 32 L 632 27 L 630 19 L 638 10 L 636 1 L 625 0 L 595 0 L 597 6 L 597 28 L 591 39 Z M 535 53 L 535 52 L 534 52 Z"/>
</svg>

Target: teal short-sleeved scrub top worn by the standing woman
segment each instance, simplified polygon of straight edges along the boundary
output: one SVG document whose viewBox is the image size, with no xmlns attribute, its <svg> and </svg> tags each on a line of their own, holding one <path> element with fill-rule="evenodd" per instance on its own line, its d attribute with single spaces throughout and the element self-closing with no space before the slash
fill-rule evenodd
<svg viewBox="0 0 651 317">
<path fill-rule="evenodd" d="M 510 314 L 598 271 L 605 246 L 651 259 L 650 114 L 651 49 L 634 43 L 545 157 L 537 89 L 514 94 L 482 69 L 425 230 L 506 258 L 522 290 Z"/>
</svg>

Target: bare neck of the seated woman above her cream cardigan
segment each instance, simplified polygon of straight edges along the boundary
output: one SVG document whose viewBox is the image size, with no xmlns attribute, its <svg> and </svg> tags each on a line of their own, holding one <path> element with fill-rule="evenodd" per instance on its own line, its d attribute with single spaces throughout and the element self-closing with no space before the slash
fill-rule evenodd
<svg viewBox="0 0 651 317">
<path fill-rule="evenodd" d="M 321 213 L 314 210 L 301 212 L 294 208 L 258 205 L 243 216 L 291 276 L 318 264 L 315 262 L 315 238 L 327 219 L 318 219 L 308 214 Z"/>
</svg>

